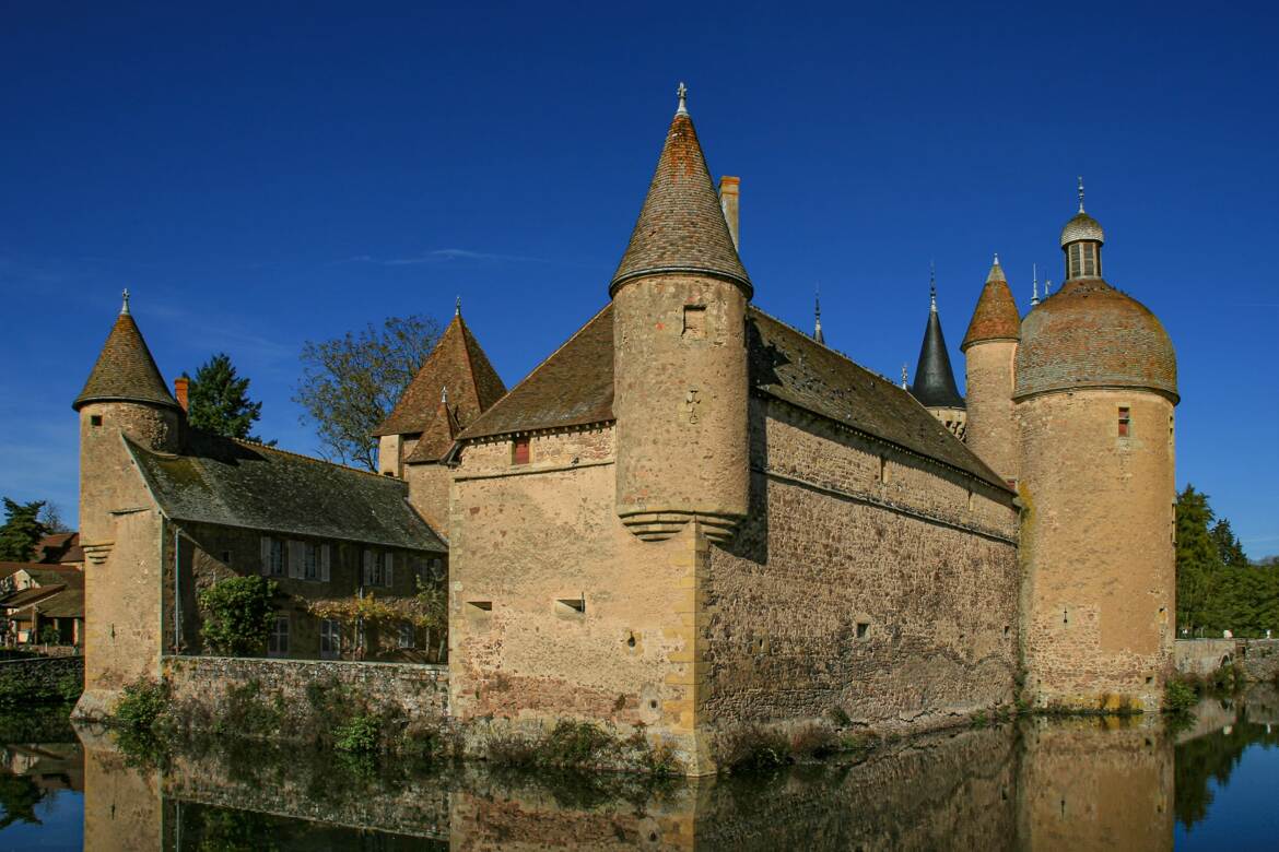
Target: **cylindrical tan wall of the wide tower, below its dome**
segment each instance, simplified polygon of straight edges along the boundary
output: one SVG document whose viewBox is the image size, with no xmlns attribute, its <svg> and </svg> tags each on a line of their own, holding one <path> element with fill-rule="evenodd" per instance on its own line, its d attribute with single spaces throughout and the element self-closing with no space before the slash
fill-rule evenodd
<svg viewBox="0 0 1279 852">
<path fill-rule="evenodd" d="M 1082 390 L 1017 414 L 1027 687 L 1039 705 L 1157 709 L 1173 664 L 1173 406 Z"/>
</svg>

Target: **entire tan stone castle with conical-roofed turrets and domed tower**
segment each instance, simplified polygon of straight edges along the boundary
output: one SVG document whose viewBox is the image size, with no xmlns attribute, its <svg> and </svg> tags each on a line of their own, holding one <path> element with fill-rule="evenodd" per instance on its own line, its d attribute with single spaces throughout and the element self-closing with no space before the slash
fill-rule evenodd
<svg viewBox="0 0 1279 852">
<path fill-rule="evenodd" d="M 459 723 L 641 728 L 691 774 L 741 726 L 1156 709 L 1175 356 L 1101 277 L 1082 189 L 1055 293 L 1023 318 L 990 270 L 967 401 L 935 301 L 898 387 L 752 304 L 737 239 L 682 92 L 609 303 L 509 392 L 459 309 L 377 430 L 382 475 L 191 429 L 125 305 L 74 404 L 81 713 L 201 654 L 198 590 L 255 572 L 272 655 L 446 660 Z M 313 605 L 430 584 L 446 646 Z"/>
</svg>

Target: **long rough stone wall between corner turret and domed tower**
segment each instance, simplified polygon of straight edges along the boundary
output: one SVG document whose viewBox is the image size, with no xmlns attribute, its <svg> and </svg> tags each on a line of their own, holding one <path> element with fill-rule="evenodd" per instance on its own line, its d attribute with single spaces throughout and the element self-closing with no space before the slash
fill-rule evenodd
<svg viewBox="0 0 1279 852">
<path fill-rule="evenodd" d="M 701 588 L 705 724 L 926 728 L 1012 703 L 1010 494 L 762 400 L 751 459 L 749 519 Z"/>
</svg>

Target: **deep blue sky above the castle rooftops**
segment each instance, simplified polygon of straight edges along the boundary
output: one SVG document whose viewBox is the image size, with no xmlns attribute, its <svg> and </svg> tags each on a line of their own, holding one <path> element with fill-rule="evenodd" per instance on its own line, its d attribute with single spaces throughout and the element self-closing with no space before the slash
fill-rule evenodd
<svg viewBox="0 0 1279 852">
<path fill-rule="evenodd" d="M 808 327 L 820 282 L 890 377 L 930 261 L 961 381 L 991 254 L 1023 310 L 1060 281 L 1082 174 L 1177 345 L 1178 484 L 1279 552 L 1279 13 L 1030 5 L 0 3 L 0 493 L 74 515 L 125 286 L 168 378 L 228 351 L 302 452 L 307 339 L 460 294 L 513 384 L 608 299 L 683 79 L 757 304 Z"/>
</svg>

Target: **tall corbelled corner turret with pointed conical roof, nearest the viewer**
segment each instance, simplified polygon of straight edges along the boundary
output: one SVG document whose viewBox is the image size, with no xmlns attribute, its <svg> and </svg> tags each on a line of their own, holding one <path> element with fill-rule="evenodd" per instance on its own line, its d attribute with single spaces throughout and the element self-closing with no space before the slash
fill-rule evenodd
<svg viewBox="0 0 1279 852">
<path fill-rule="evenodd" d="M 742 267 L 679 91 L 613 296 L 616 512 L 640 538 L 696 517 L 726 540 L 746 516 Z"/>
</svg>

